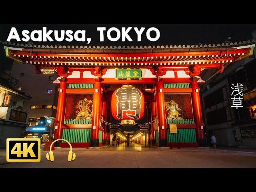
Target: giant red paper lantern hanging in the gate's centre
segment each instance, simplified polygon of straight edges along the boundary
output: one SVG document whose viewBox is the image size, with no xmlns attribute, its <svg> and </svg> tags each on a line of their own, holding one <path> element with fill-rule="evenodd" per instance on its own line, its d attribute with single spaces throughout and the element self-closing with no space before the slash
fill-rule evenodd
<svg viewBox="0 0 256 192">
<path fill-rule="evenodd" d="M 123 85 L 112 94 L 112 115 L 124 125 L 134 124 L 144 114 L 144 96 L 132 85 Z"/>
</svg>

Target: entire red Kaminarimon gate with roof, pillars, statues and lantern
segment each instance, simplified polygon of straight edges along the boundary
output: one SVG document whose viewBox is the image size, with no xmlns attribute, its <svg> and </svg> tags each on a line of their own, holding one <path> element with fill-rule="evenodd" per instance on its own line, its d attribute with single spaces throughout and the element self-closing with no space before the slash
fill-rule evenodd
<svg viewBox="0 0 256 192">
<path fill-rule="evenodd" d="M 115 116 L 113 127 L 148 125 L 152 146 L 197 147 L 205 143 L 200 73 L 212 68 L 222 73 L 231 62 L 251 55 L 253 44 L 87 47 L 6 43 L 4 48 L 6 56 L 34 65 L 36 73 L 42 69 L 58 73 L 54 81 L 59 86 L 55 139 L 69 140 L 73 147 L 109 145 L 111 116 Z M 142 117 L 146 122 L 138 120 L 140 115 L 146 116 Z M 139 132 L 131 140 L 137 142 Z M 124 132 L 117 134 L 125 139 Z"/>
</svg>

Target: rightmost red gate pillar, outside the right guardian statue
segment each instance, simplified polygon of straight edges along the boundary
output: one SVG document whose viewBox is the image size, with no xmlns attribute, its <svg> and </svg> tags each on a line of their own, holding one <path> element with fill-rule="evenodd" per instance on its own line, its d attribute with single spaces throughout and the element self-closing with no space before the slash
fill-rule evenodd
<svg viewBox="0 0 256 192">
<path fill-rule="evenodd" d="M 205 145 L 204 129 L 201 129 L 201 126 L 203 126 L 203 118 L 202 118 L 198 83 L 196 81 L 191 82 L 191 88 L 192 88 L 192 95 L 191 95 L 192 108 L 193 108 L 194 119 L 196 123 L 196 137 L 198 140 L 198 145 Z"/>
</svg>

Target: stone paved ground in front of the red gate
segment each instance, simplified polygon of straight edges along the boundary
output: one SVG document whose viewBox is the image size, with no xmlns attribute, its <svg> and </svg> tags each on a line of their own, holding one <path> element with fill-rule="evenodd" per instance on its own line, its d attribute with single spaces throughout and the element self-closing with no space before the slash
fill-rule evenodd
<svg viewBox="0 0 256 192">
<path fill-rule="evenodd" d="M 145 146 L 108 146 L 100 149 L 74 148 L 76 159 L 68 162 L 68 148 L 54 151 L 54 162 L 6 162 L 0 150 L 0 168 L 256 168 L 256 150 L 158 149 Z M 6 164 L 7 163 L 7 164 Z"/>
</svg>

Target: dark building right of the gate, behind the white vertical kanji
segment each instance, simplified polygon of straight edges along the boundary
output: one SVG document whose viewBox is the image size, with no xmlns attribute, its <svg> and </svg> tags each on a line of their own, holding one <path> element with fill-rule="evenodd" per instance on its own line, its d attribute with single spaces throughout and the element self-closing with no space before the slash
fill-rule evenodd
<svg viewBox="0 0 256 192">
<path fill-rule="evenodd" d="M 255 70 L 254 48 L 252 56 L 227 66 L 200 87 L 209 144 L 214 134 L 219 145 L 256 147 Z M 233 103 L 232 84 L 242 85 L 242 107 Z"/>
</svg>

